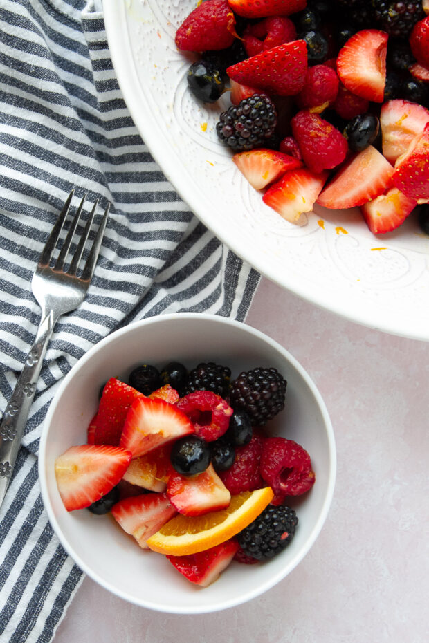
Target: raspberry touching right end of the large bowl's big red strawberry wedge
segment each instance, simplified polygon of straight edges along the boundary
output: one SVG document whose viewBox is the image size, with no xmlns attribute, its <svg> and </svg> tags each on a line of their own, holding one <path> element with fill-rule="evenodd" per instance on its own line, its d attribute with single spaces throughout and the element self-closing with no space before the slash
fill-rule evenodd
<svg viewBox="0 0 429 643">
<path fill-rule="evenodd" d="M 296 102 L 300 109 L 331 104 L 336 99 L 340 80 L 334 69 L 325 65 L 314 65 L 307 69 L 305 84 L 297 95 Z"/>
</svg>

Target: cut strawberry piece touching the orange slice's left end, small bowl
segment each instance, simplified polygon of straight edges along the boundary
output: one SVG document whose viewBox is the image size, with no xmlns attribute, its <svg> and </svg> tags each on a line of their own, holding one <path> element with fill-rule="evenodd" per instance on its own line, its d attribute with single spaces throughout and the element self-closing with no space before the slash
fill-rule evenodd
<svg viewBox="0 0 429 643">
<path fill-rule="evenodd" d="M 172 519 L 176 510 L 165 494 L 143 494 L 120 500 L 111 514 L 142 549 L 149 549 L 147 539 Z"/>
</svg>

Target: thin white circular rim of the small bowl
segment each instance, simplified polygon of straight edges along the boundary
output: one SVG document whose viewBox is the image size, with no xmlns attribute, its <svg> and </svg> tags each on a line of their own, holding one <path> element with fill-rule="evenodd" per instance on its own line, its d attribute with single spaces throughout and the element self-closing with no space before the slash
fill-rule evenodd
<svg viewBox="0 0 429 643">
<path fill-rule="evenodd" d="M 329 485 L 327 488 L 327 494 L 322 506 L 322 510 L 320 511 L 318 520 L 316 521 L 313 527 L 313 530 L 311 531 L 311 534 L 307 539 L 306 547 L 300 551 L 299 555 L 291 559 L 288 566 L 286 566 L 285 568 L 282 568 L 280 572 L 274 575 L 265 584 L 262 584 L 261 586 L 259 586 L 257 590 L 249 589 L 248 593 L 246 593 L 245 595 L 241 595 L 240 597 L 237 597 L 237 599 L 234 601 L 228 601 L 223 603 L 219 602 L 218 604 L 215 604 L 210 608 L 207 608 L 205 606 L 201 606 L 193 609 L 186 608 L 186 607 L 183 607 L 183 608 L 167 607 L 166 608 L 159 605 L 158 603 L 151 603 L 149 601 L 139 601 L 138 599 L 136 599 L 136 597 L 129 595 L 126 592 L 122 592 L 118 590 L 118 588 L 111 585 L 108 581 L 105 581 L 98 574 L 93 572 L 93 570 L 91 570 L 91 568 L 89 568 L 86 565 L 86 563 L 82 560 L 82 558 L 76 554 L 76 552 L 69 545 L 66 537 L 64 536 L 62 532 L 62 528 L 60 527 L 60 524 L 58 523 L 55 517 L 55 514 L 53 512 L 53 509 L 51 507 L 51 502 L 49 501 L 46 476 L 42 474 L 42 472 L 45 472 L 46 470 L 45 456 L 46 456 L 46 445 L 47 445 L 47 427 L 51 422 L 51 417 L 53 416 L 53 413 L 55 411 L 57 400 L 59 400 L 63 391 L 68 386 L 69 380 L 73 377 L 73 374 L 75 373 L 75 369 L 82 369 L 84 367 L 84 364 L 86 364 L 89 360 L 91 360 L 91 357 L 93 356 L 95 351 L 98 351 L 100 350 L 100 348 L 103 348 L 104 346 L 107 346 L 109 343 L 116 341 L 116 339 L 120 337 L 120 335 L 123 335 L 124 333 L 126 333 L 130 327 L 148 326 L 150 324 L 159 323 L 161 319 L 168 320 L 168 319 L 176 319 L 178 317 L 188 318 L 188 319 L 195 319 L 195 318 L 210 319 L 214 322 L 219 322 L 221 324 L 226 323 L 226 324 L 230 324 L 231 326 L 237 326 L 239 328 L 245 327 L 248 333 L 250 333 L 250 335 L 254 335 L 259 339 L 263 339 L 268 344 L 271 344 L 271 346 L 273 346 L 275 350 L 279 351 L 280 353 L 282 353 L 282 355 L 284 355 L 286 360 L 288 360 L 293 365 L 296 371 L 298 371 L 298 373 L 300 373 L 300 375 L 302 376 L 302 379 L 309 386 L 311 393 L 313 394 L 314 398 L 316 399 L 316 402 L 318 403 L 318 406 L 320 407 L 320 412 L 322 414 L 322 418 L 323 418 L 323 421 L 325 422 L 325 426 L 327 430 L 327 442 L 328 442 L 328 449 L 329 449 L 329 469 L 330 469 L 331 475 L 329 476 Z M 46 413 L 46 418 L 44 421 L 44 427 L 42 429 L 42 436 L 40 438 L 40 446 L 39 446 L 39 482 L 40 482 L 41 493 L 42 493 L 42 501 L 44 503 L 44 507 L 48 514 L 48 519 L 53 527 L 53 530 L 57 534 L 57 537 L 60 540 L 60 543 L 62 544 L 64 550 L 66 550 L 66 552 L 71 556 L 71 558 L 75 561 L 77 566 L 86 575 L 88 575 L 91 579 L 93 579 L 93 581 L 98 583 L 100 586 L 111 591 L 111 593 L 119 596 L 120 598 L 126 600 L 127 602 L 136 604 L 140 607 L 152 609 L 154 611 L 160 611 L 164 613 L 173 613 L 173 614 L 205 614 L 205 613 L 210 613 L 215 611 L 222 611 L 228 608 L 241 605 L 245 602 L 248 602 L 249 600 L 252 600 L 258 597 L 263 593 L 265 593 L 267 590 L 271 589 L 273 586 L 275 586 L 275 584 L 277 584 L 284 577 L 286 577 L 286 575 L 288 575 L 296 566 L 298 566 L 298 563 L 300 563 L 300 561 L 304 558 L 305 555 L 307 555 L 307 553 L 313 546 L 313 543 L 316 541 L 318 534 L 322 530 L 322 527 L 325 523 L 327 514 L 329 512 L 329 507 L 331 506 L 331 501 L 334 496 L 334 487 L 336 482 L 336 443 L 335 443 L 335 437 L 334 437 L 334 429 L 331 424 L 331 418 L 329 417 L 327 407 L 325 405 L 325 402 L 322 399 L 322 396 L 320 395 L 320 392 L 318 391 L 316 384 L 310 378 L 307 371 L 305 371 L 304 367 L 301 366 L 301 364 L 295 359 L 295 357 L 293 357 L 293 355 L 291 355 L 291 353 L 289 353 L 289 351 L 287 351 L 286 348 L 284 348 L 281 344 L 278 344 L 278 342 L 276 342 L 275 339 L 271 339 L 271 337 L 269 337 L 268 335 L 265 335 L 265 333 L 262 333 L 260 330 L 253 328 L 253 326 L 249 326 L 248 324 L 244 324 L 243 322 L 237 322 L 235 319 L 230 319 L 228 317 L 219 317 L 219 315 L 211 315 L 210 313 L 167 313 L 165 315 L 159 315 L 158 317 L 149 317 L 148 319 L 143 319 L 140 322 L 133 322 L 132 324 L 129 324 L 124 328 L 120 328 L 119 330 L 116 330 L 111 335 L 104 337 L 104 339 L 98 342 L 98 344 L 95 344 L 95 346 L 93 346 L 83 357 L 81 357 L 80 360 L 78 360 L 78 362 L 73 366 L 73 369 L 69 371 L 69 373 L 66 375 L 66 377 L 60 384 L 57 392 L 55 393 L 55 396 L 48 409 L 48 413 Z"/>
</svg>

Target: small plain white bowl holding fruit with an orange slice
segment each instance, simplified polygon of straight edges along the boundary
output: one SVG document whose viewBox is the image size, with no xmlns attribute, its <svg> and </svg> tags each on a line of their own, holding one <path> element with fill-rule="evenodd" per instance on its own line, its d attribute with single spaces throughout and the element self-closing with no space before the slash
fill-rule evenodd
<svg viewBox="0 0 429 643">
<path fill-rule="evenodd" d="M 277 557 L 244 565 L 233 561 L 207 588 L 190 583 L 162 555 L 141 550 L 110 515 L 67 512 L 55 481 L 55 458 L 86 442 L 100 386 L 126 379 L 143 362 L 188 368 L 214 361 L 232 377 L 256 366 L 275 366 L 286 378 L 286 408 L 267 431 L 299 442 L 311 456 L 316 483 L 295 502 L 299 525 Z M 89 577 L 131 603 L 168 613 L 199 614 L 244 603 L 284 579 L 307 554 L 325 522 L 334 492 L 336 449 L 325 404 L 309 375 L 280 344 L 246 324 L 217 315 L 175 313 L 136 322 L 113 333 L 73 366 L 46 416 L 39 449 L 42 498 L 64 549 Z"/>
</svg>

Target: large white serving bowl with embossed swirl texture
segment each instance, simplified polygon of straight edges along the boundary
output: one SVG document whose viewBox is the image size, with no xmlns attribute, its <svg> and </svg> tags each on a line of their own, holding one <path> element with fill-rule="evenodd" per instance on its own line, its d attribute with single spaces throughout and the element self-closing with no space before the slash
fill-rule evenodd
<svg viewBox="0 0 429 643">
<path fill-rule="evenodd" d="M 375 236 L 358 208 L 316 207 L 298 227 L 265 205 L 217 139 L 228 93 L 210 105 L 187 89 L 194 58 L 177 50 L 174 35 L 195 6 L 103 2 L 122 94 L 165 176 L 221 241 L 282 288 L 370 328 L 429 340 L 429 236 L 412 217 Z"/>
</svg>

